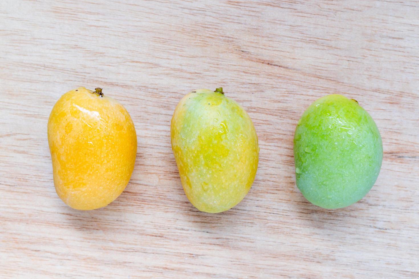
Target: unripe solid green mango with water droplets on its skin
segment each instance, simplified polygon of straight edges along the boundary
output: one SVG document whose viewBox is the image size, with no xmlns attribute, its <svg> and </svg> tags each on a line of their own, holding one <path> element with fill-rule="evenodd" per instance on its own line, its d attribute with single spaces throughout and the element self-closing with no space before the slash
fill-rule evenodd
<svg viewBox="0 0 419 279">
<path fill-rule="evenodd" d="M 294 137 L 297 187 L 323 208 L 341 208 L 364 197 L 383 160 L 380 132 L 357 101 L 328 95 L 313 102 Z"/>
</svg>

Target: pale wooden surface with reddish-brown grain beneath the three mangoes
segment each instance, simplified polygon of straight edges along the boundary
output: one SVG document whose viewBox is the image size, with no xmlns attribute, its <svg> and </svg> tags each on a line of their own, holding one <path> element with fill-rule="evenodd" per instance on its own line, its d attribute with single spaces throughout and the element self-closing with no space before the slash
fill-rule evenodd
<svg viewBox="0 0 419 279">
<path fill-rule="evenodd" d="M 0 3 L 0 276 L 419 276 L 419 2 L 25 1 Z M 127 189 L 82 212 L 55 193 L 54 103 L 103 87 L 134 120 Z M 170 143 L 177 102 L 222 86 L 248 111 L 260 161 L 221 214 L 186 199 Z M 330 94 L 375 119 L 375 186 L 339 210 L 295 186 L 300 115 Z"/>
</svg>

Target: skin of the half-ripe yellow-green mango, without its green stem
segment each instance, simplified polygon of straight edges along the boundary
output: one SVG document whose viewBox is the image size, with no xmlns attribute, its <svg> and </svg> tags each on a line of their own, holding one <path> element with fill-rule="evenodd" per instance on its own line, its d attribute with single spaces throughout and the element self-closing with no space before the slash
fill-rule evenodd
<svg viewBox="0 0 419 279">
<path fill-rule="evenodd" d="M 256 176 L 259 144 L 252 120 L 219 92 L 190 92 L 171 121 L 171 143 L 182 186 L 198 210 L 217 213 L 237 205 Z"/>
</svg>

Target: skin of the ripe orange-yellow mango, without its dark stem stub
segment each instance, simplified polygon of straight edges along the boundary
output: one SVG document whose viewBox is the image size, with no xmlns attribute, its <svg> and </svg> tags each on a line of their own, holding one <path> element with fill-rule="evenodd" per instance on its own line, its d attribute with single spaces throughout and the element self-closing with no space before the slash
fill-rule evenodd
<svg viewBox="0 0 419 279">
<path fill-rule="evenodd" d="M 93 210 L 124 191 L 134 169 L 137 135 L 116 100 L 79 87 L 57 101 L 48 120 L 54 185 L 70 207 Z"/>
</svg>

